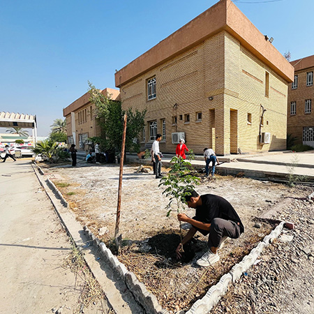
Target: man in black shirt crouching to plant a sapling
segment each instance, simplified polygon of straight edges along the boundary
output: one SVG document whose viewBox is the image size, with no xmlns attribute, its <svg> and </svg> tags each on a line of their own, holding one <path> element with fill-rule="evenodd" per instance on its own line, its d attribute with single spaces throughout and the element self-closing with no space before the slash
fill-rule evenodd
<svg viewBox="0 0 314 314">
<path fill-rule="evenodd" d="M 181 258 L 181 248 L 197 231 L 200 231 L 204 235 L 209 234 L 209 250 L 197 260 L 197 264 L 209 266 L 218 262 L 217 250 L 223 241 L 227 237 L 237 239 L 244 232 L 244 225 L 230 202 L 223 197 L 213 194 L 198 195 L 195 190 L 188 192 L 190 195 L 184 198 L 188 207 L 195 208 L 195 217 L 189 218 L 186 214 L 178 214 L 178 220 L 190 223 L 192 227 L 177 247 L 177 257 Z"/>
</svg>

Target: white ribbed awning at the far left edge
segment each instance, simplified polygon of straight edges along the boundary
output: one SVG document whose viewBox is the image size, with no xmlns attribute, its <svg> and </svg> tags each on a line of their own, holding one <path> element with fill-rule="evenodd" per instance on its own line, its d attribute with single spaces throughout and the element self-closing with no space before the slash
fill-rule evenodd
<svg viewBox="0 0 314 314">
<path fill-rule="evenodd" d="M 36 128 L 36 116 L 0 112 L 0 128 Z"/>
</svg>

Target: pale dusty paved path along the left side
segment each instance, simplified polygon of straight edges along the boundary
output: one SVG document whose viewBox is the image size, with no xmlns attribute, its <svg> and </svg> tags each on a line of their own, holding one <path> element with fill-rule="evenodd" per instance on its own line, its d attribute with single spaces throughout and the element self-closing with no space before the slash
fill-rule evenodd
<svg viewBox="0 0 314 314">
<path fill-rule="evenodd" d="M 112 313 L 29 161 L 7 160 L 0 173 L 0 313 Z"/>
</svg>

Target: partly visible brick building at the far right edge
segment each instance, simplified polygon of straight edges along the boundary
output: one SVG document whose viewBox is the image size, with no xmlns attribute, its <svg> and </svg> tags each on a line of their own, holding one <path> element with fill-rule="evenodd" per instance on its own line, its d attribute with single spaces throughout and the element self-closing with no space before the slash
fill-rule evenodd
<svg viewBox="0 0 314 314">
<path fill-rule="evenodd" d="M 314 55 L 291 64 L 294 66 L 294 82 L 288 91 L 287 134 L 297 137 L 296 144 L 314 147 Z"/>
</svg>

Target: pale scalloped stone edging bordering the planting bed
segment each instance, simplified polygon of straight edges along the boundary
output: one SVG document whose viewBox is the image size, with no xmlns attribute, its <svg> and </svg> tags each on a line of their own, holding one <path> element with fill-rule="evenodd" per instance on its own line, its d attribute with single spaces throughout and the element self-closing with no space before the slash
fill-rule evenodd
<svg viewBox="0 0 314 314">
<path fill-rule="evenodd" d="M 38 167 L 38 171 L 44 175 L 43 170 Z M 68 202 L 64 199 L 63 195 L 57 189 L 57 187 L 53 184 L 53 182 L 47 178 L 47 185 L 51 188 L 51 190 L 57 194 L 61 203 L 64 207 L 68 207 Z M 263 249 L 268 246 L 271 241 L 276 239 L 283 230 L 285 222 L 282 221 L 270 234 L 264 237 L 260 243 L 252 249 L 251 253 L 244 256 L 244 258 L 238 264 L 235 264 L 228 274 L 223 275 L 220 278 L 220 281 L 209 288 L 207 294 L 199 299 L 193 304 L 193 306 L 186 312 L 186 314 L 204 314 L 209 313 L 211 308 L 218 304 L 218 301 L 223 297 L 223 295 L 227 292 L 227 289 L 231 283 L 235 283 L 241 275 L 247 271 L 257 260 L 257 257 L 262 253 Z M 87 226 L 83 227 L 84 232 L 86 232 L 87 237 L 93 242 L 94 246 L 98 246 L 99 251 L 110 267 L 117 271 L 117 274 L 123 278 L 126 286 L 133 293 L 137 302 L 139 302 L 147 313 L 152 314 L 168 314 L 169 312 L 163 309 L 160 304 L 158 304 L 157 298 L 147 290 L 143 283 L 138 281 L 135 274 L 128 271 L 124 264 L 119 262 L 117 257 L 115 257 L 109 248 L 103 243 L 100 242 L 95 235 L 88 229 Z M 179 311 L 177 314 L 184 314 L 184 311 Z"/>
</svg>

